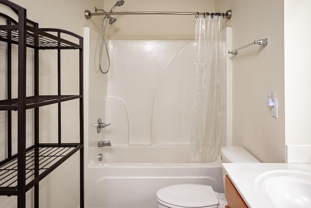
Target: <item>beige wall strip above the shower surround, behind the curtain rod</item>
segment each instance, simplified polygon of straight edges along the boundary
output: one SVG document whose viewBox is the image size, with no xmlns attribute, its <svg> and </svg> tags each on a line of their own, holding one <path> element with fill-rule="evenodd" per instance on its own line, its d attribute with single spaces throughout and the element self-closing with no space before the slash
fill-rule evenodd
<svg viewBox="0 0 311 208">
<path fill-rule="evenodd" d="M 116 0 L 104 0 L 109 11 Z M 99 8 L 99 6 L 98 6 Z M 92 9 L 92 12 L 94 10 Z M 214 12 L 214 0 L 125 0 L 114 12 Z M 108 39 L 193 39 L 194 16 L 122 15 L 107 26 Z M 99 18 L 102 17 L 92 17 Z"/>
</svg>

